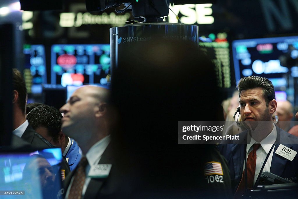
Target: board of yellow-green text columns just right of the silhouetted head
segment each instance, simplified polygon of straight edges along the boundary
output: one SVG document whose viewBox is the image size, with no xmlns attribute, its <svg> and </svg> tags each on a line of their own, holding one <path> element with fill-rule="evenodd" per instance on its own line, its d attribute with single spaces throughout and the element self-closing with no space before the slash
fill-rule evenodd
<svg viewBox="0 0 298 199">
<path fill-rule="evenodd" d="M 207 53 L 215 64 L 218 87 L 230 88 L 230 50 L 226 33 L 211 33 L 199 38 L 199 47 Z"/>
</svg>

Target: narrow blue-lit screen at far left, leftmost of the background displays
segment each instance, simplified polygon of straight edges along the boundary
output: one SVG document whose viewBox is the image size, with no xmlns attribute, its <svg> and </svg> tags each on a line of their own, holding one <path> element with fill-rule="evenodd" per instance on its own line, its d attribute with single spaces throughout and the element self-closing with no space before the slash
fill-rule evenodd
<svg viewBox="0 0 298 199">
<path fill-rule="evenodd" d="M 46 55 L 44 45 L 24 44 L 24 80 L 27 92 L 40 94 L 46 84 Z"/>
</svg>

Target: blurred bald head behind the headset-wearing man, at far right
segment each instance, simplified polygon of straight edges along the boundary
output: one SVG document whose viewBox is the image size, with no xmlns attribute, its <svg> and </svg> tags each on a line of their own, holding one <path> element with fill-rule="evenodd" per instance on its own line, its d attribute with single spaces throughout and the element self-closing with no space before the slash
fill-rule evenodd
<svg viewBox="0 0 298 199">
<path fill-rule="evenodd" d="M 278 101 L 275 114 L 278 116 L 277 125 L 288 132 L 290 129 L 290 122 L 294 117 L 293 106 L 289 101 Z"/>
</svg>

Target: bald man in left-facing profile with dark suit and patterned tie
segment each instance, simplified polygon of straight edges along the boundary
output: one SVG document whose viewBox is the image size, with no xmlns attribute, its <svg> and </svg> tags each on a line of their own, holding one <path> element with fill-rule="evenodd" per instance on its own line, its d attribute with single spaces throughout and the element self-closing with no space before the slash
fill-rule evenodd
<svg viewBox="0 0 298 199">
<path fill-rule="evenodd" d="M 98 198 L 113 192 L 116 177 L 110 174 L 113 161 L 110 144 L 112 117 L 108 98 L 107 89 L 83 86 L 75 90 L 60 108 L 60 112 L 64 113 L 63 132 L 77 140 L 86 157 L 82 157 L 77 168 L 64 181 L 66 198 Z M 86 159 L 88 162 L 84 163 Z M 83 179 L 77 177 L 82 172 L 85 174 Z"/>
</svg>

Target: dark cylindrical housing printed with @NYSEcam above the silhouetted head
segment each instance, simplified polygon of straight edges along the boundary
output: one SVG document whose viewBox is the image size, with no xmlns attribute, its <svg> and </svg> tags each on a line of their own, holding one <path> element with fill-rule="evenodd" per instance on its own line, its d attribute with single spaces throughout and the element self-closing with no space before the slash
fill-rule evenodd
<svg viewBox="0 0 298 199">
<path fill-rule="evenodd" d="M 156 42 L 160 39 L 179 39 L 198 45 L 198 26 L 177 23 L 140 23 L 110 28 L 111 81 L 113 81 L 113 70 L 118 67 L 121 59 L 125 59 L 122 56 L 124 52 L 131 52 L 140 42 L 145 45 L 147 42 Z M 137 56 L 139 53 L 146 52 L 134 52 L 131 56 Z"/>
</svg>

